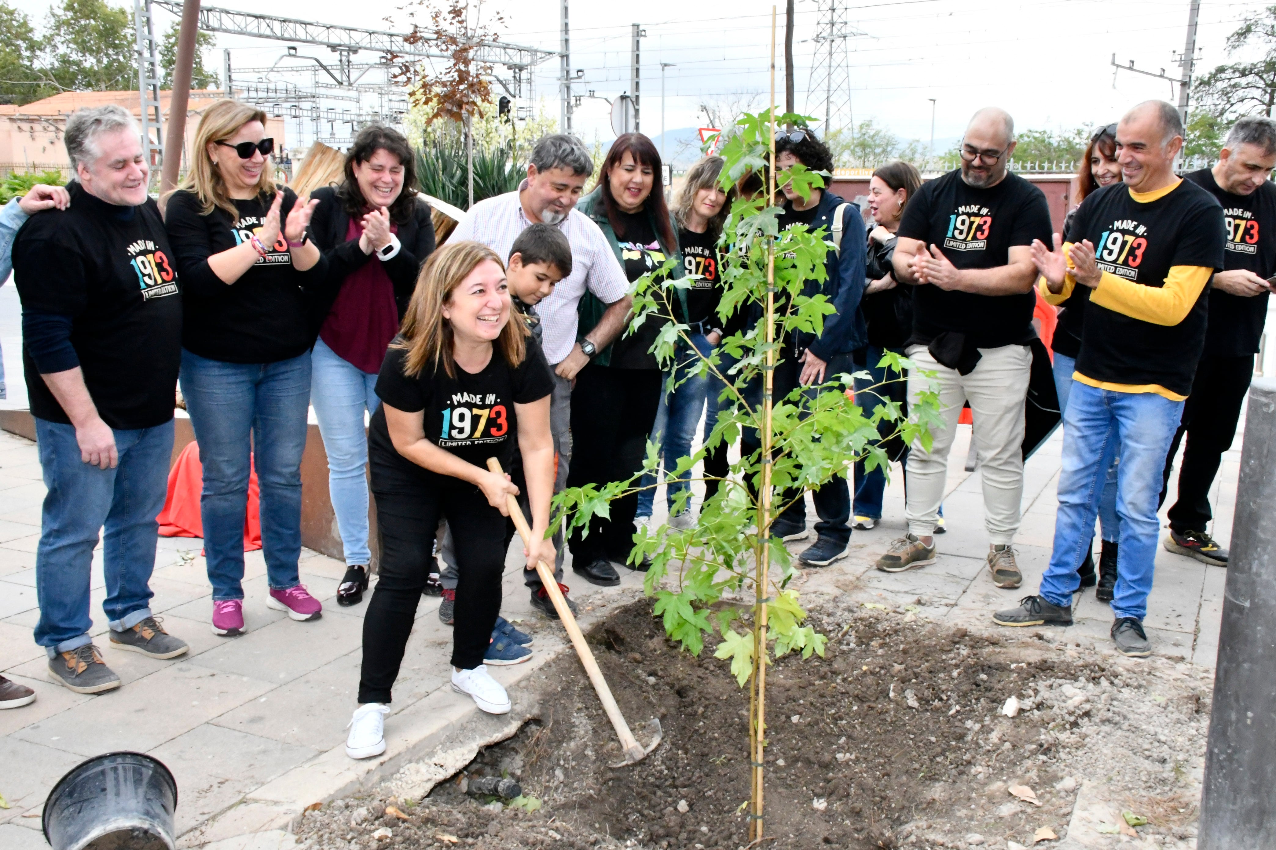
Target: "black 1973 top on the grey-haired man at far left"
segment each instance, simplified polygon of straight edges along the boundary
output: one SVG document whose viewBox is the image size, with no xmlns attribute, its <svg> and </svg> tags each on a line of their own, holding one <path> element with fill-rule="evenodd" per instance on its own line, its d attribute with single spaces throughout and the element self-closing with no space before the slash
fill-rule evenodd
<svg viewBox="0 0 1276 850">
<path fill-rule="evenodd" d="M 18 232 L 13 270 L 23 310 L 73 317 L 71 347 L 102 421 L 119 429 L 172 419 L 181 363 L 181 297 L 160 208 L 116 206 L 68 186 L 65 210 Z M 70 424 L 23 352 L 31 413 Z"/>
</svg>

